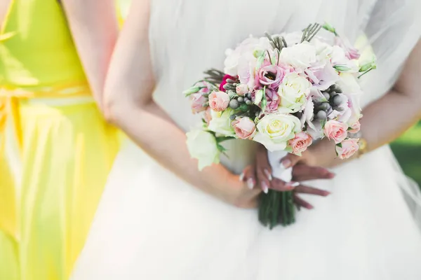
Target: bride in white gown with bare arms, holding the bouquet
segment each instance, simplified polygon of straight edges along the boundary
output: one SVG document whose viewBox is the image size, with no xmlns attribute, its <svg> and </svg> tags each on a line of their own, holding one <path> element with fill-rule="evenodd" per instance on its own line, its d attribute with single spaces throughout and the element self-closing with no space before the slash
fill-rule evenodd
<svg viewBox="0 0 421 280">
<path fill-rule="evenodd" d="M 134 144 L 115 162 L 72 279 L 421 279 L 420 196 L 385 146 L 421 115 L 417 5 L 133 1 L 109 69 L 105 106 Z M 199 172 L 185 131 L 200 120 L 189 113 L 182 90 L 204 69 L 220 68 L 224 50 L 248 34 L 323 21 L 352 41 L 365 34 L 377 55 L 378 69 L 361 81 L 367 153 L 338 165 L 332 144 L 323 140 L 302 158 L 283 161 L 298 162 L 296 181 L 328 179 L 312 181 L 318 189 L 263 178 L 265 151 L 257 148 L 254 162 L 256 146 L 247 141 L 230 141 L 229 159 Z M 243 183 L 238 174 L 247 165 L 255 167 L 246 169 Z M 335 178 L 307 165 L 334 167 Z M 297 186 L 313 194 L 296 202 L 314 209 L 298 212 L 288 228 L 263 228 L 253 207 L 265 180 L 271 188 Z"/>
</svg>

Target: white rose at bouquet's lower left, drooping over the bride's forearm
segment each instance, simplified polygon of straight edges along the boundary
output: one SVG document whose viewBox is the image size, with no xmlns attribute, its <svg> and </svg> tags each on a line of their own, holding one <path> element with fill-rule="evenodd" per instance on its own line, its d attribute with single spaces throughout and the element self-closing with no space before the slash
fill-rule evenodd
<svg viewBox="0 0 421 280">
<path fill-rule="evenodd" d="M 186 136 L 190 155 L 199 160 L 199 170 L 220 162 L 220 151 L 212 134 L 203 130 L 194 130 L 187 132 Z"/>
</svg>

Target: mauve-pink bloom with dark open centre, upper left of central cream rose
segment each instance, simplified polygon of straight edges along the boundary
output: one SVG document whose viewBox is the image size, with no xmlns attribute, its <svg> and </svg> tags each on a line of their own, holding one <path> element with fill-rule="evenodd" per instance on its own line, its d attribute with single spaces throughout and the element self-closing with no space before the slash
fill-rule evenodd
<svg viewBox="0 0 421 280">
<path fill-rule="evenodd" d="M 278 88 L 282 83 L 283 76 L 285 76 L 284 69 L 266 61 L 263 63 L 262 68 L 260 68 L 255 76 L 255 86 L 257 88 L 266 86 L 271 90 L 276 90 L 276 88 Z"/>
</svg>

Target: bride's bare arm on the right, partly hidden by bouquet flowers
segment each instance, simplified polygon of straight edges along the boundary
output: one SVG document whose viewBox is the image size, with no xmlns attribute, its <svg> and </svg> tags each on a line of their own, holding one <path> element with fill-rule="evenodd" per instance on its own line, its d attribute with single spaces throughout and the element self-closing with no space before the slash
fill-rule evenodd
<svg viewBox="0 0 421 280">
<path fill-rule="evenodd" d="M 384 97 L 363 110 L 361 133 L 368 151 L 394 141 L 421 118 L 421 41 L 410 53 L 399 80 Z M 307 162 L 333 167 L 345 162 L 335 159 L 335 144 L 323 139 L 309 148 Z M 352 160 L 352 159 L 350 159 Z M 295 162 L 295 160 L 293 160 Z"/>
</svg>

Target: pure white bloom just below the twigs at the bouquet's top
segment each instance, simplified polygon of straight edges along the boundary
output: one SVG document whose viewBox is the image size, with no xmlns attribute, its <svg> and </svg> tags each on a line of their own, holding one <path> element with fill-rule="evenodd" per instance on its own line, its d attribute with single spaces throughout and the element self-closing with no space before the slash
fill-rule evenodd
<svg viewBox="0 0 421 280">
<path fill-rule="evenodd" d="M 316 48 L 307 42 L 281 50 L 281 62 L 295 68 L 305 69 L 316 62 Z"/>
</svg>

